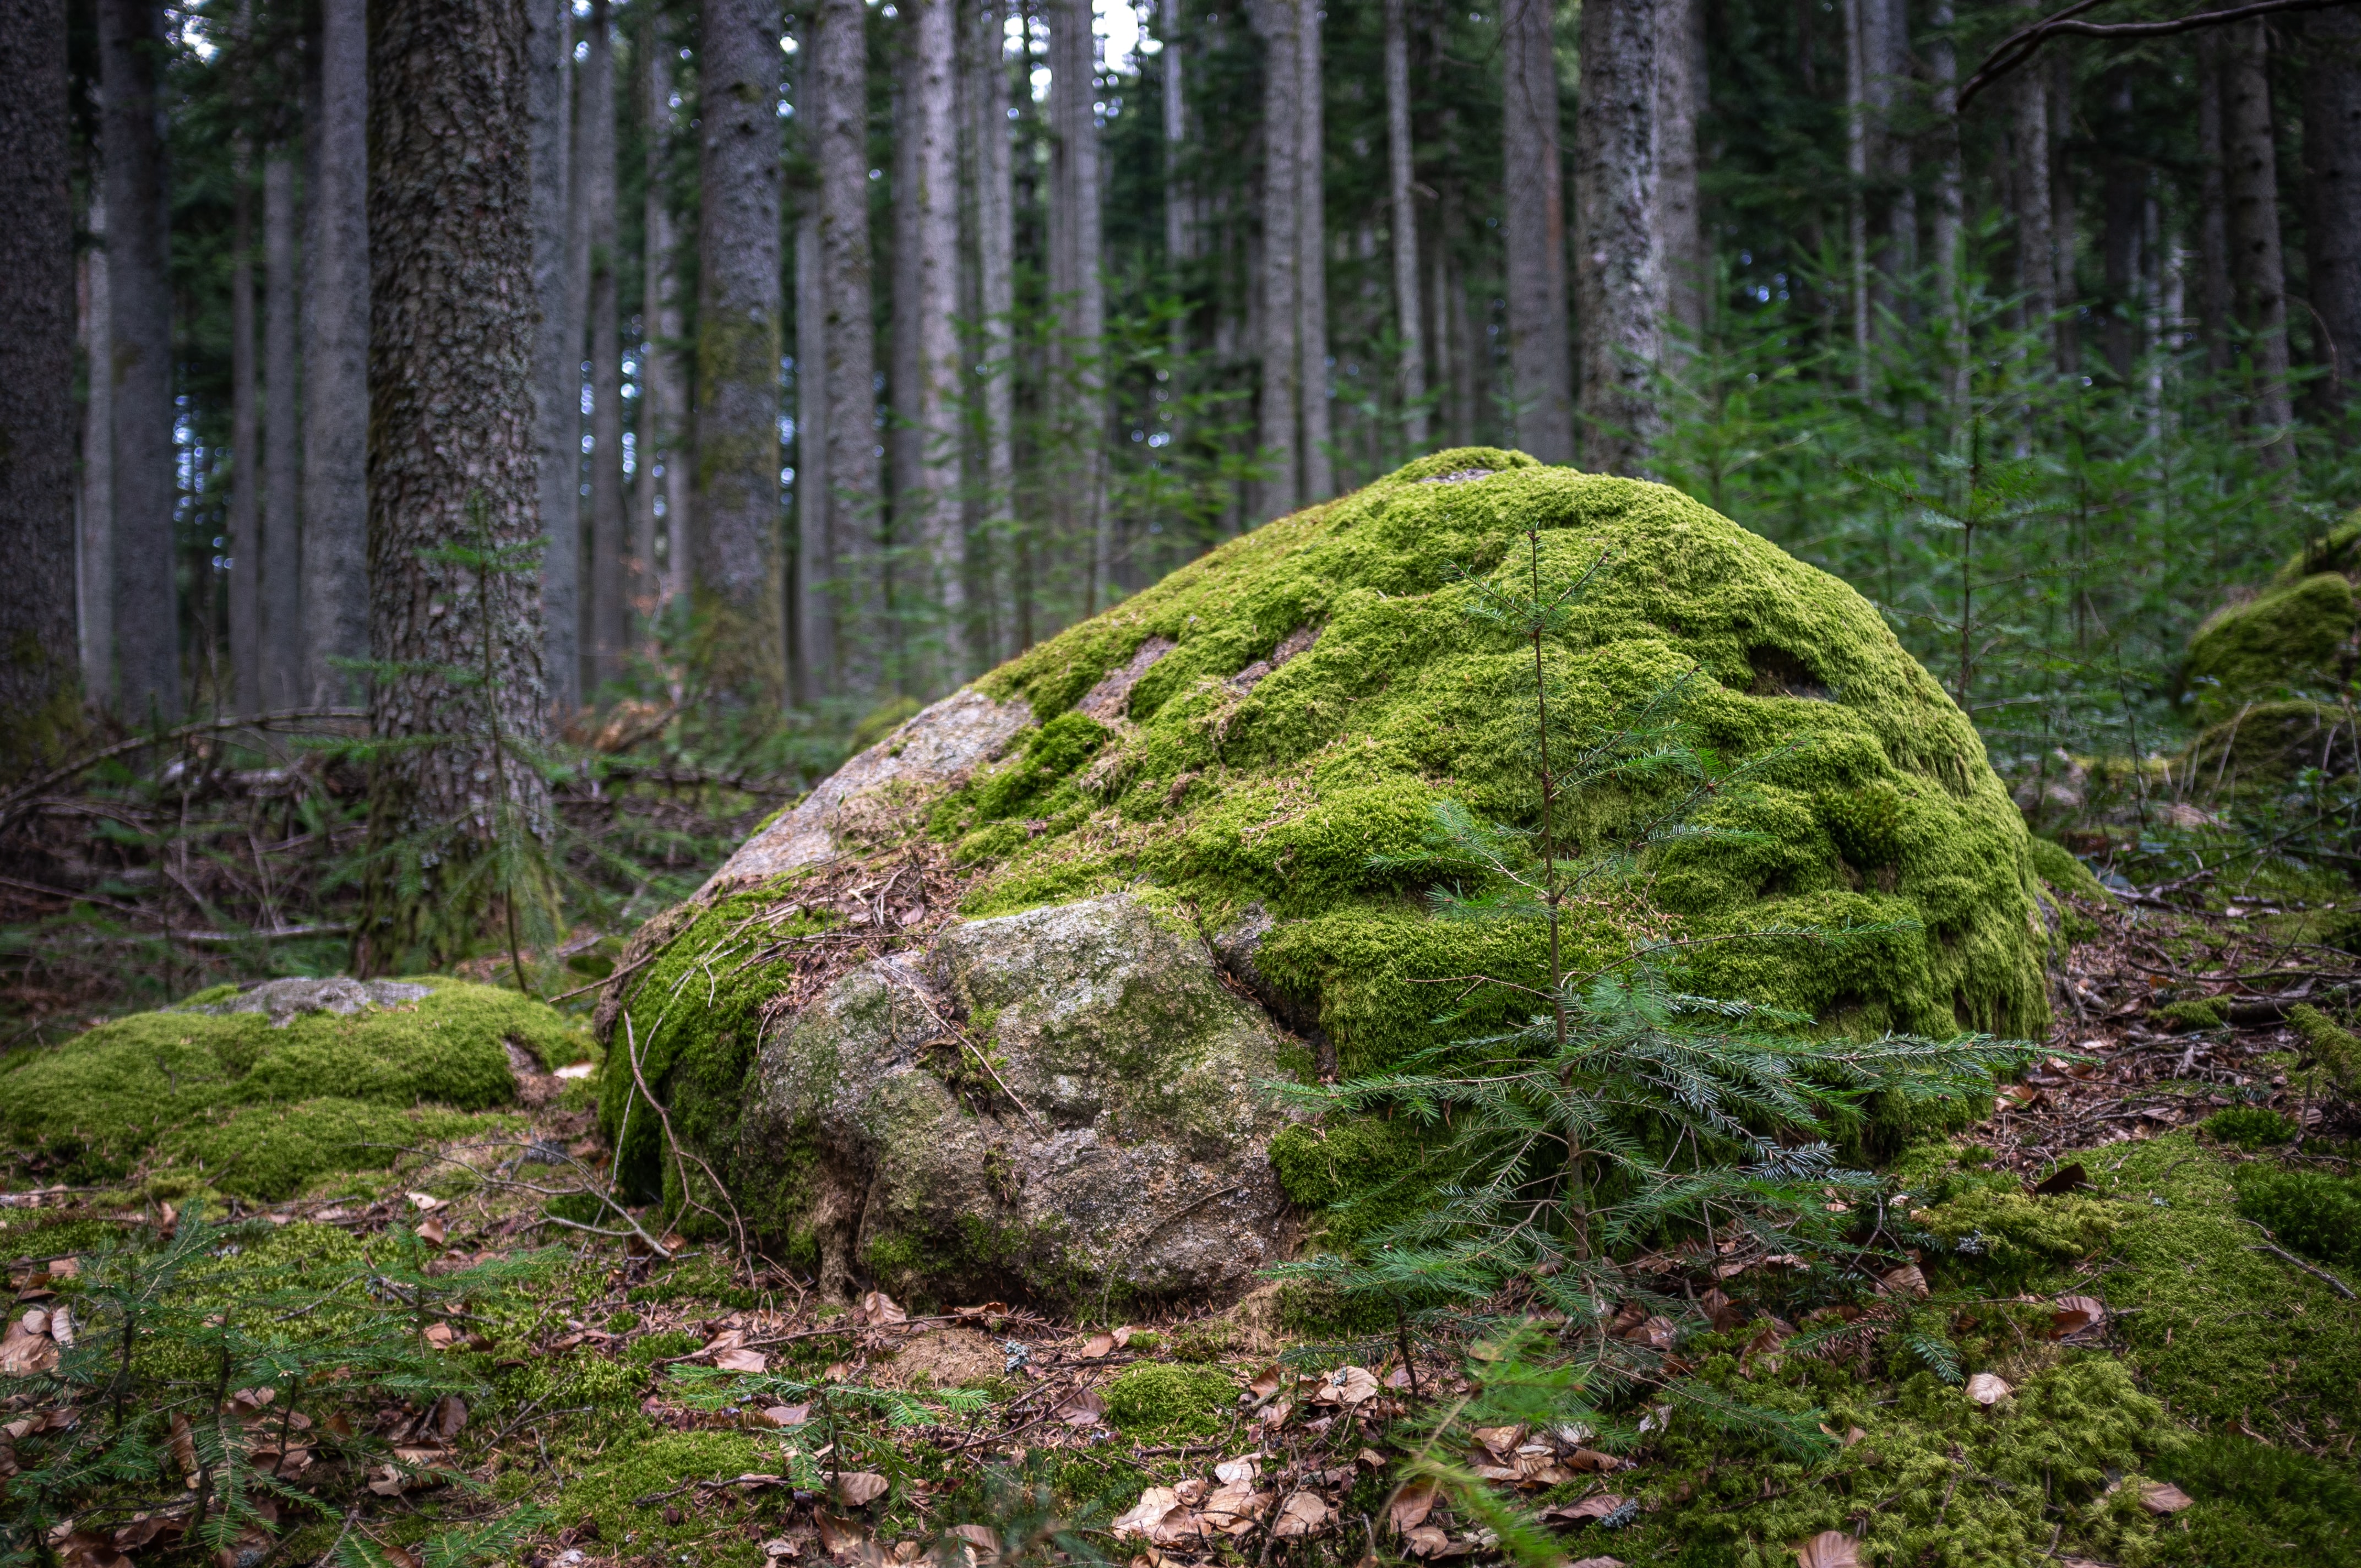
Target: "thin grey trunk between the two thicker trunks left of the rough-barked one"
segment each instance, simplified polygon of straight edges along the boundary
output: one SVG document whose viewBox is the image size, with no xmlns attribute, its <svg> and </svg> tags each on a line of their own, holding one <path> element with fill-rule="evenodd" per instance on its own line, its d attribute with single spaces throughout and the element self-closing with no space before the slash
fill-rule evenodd
<svg viewBox="0 0 2361 1568">
<path fill-rule="evenodd" d="M 262 156 L 262 701 L 293 708 L 302 682 L 302 401 L 295 387 L 295 153 Z"/>
</svg>

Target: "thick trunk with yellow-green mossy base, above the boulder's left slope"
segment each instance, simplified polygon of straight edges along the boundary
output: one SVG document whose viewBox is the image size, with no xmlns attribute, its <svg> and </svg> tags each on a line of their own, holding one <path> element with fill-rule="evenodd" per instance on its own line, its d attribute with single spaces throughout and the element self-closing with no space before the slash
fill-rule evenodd
<svg viewBox="0 0 2361 1568">
<path fill-rule="evenodd" d="M 696 605 L 722 690 L 786 699 L 779 581 L 779 5 L 706 0 Z"/>
</svg>

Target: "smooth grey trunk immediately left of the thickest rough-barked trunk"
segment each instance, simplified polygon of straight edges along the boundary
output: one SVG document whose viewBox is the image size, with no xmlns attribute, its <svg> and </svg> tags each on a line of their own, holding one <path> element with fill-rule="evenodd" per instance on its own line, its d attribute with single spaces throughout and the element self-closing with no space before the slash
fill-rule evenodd
<svg viewBox="0 0 2361 1568">
<path fill-rule="evenodd" d="M 368 5 L 319 5 L 312 250 L 305 255 L 302 671 L 305 697 L 345 704 L 368 656 Z"/>
</svg>

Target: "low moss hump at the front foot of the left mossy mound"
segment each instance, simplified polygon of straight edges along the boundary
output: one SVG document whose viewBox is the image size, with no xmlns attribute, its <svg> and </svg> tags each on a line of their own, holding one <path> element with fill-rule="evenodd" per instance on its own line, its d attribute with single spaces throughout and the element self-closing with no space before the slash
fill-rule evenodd
<svg viewBox="0 0 2361 1568">
<path fill-rule="evenodd" d="M 505 1117 L 456 1110 L 401 1110 L 368 1100 L 316 1098 L 238 1105 L 224 1117 L 201 1117 L 158 1143 L 175 1164 L 236 1197 L 279 1202 L 333 1171 L 382 1171 L 406 1150 L 446 1138 L 486 1136 Z"/>
</svg>

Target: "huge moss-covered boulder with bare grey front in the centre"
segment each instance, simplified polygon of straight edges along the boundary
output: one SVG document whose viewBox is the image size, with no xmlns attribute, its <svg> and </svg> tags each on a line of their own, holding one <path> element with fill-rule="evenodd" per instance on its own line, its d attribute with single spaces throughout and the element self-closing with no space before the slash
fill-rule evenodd
<svg viewBox="0 0 2361 1568">
<path fill-rule="evenodd" d="M 1537 817 L 1532 652 L 1469 616 L 1469 579 L 1523 586 L 1528 529 L 1544 590 L 1596 567 L 1546 652 L 1572 725 L 1681 687 L 1698 744 L 1764 763 L 1702 812 L 1742 838 L 1660 850 L 1648 907 L 1575 909 L 1570 968 L 1646 930 L 1700 937 L 1686 987 L 1830 1032 L 2047 1027 L 2023 822 L 1875 607 L 1672 489 L 1466 449 L 926 708 L 654 921 L 600 1013 L 640 1063 L 602 1079 L 623 1181 L 725 1209 L 711 1169 L 831 1287 L 1242 1285 L 1291 1235 L 1268 1150 L 1346 1164 L 1251 1084 L 1435 1044 L 1435 980 L 1546 975 L 1539 933 L 1433 919 L 1395 860 L 1445 801 Z M 1747 940 L 1797 926 L 1853 935 Z"/>
</svg>

